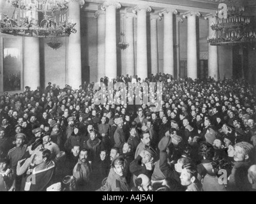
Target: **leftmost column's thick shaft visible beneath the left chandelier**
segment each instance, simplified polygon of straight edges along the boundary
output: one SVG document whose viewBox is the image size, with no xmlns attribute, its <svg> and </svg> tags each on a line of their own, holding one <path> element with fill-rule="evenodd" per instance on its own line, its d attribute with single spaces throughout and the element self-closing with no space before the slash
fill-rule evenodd
<svg viewBox="0 0 256 204">
<path fill-rule="evenodd" d="M 40 86 L 40 46 L 38 38 L 24 38 L 24 87 Z"/>
</svg>

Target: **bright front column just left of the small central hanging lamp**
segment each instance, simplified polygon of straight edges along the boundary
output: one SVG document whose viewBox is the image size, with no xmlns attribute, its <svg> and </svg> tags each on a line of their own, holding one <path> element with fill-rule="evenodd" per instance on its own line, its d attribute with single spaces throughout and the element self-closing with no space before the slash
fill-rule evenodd
<svg viewBox="0 0 256 204">
<path fill-rule="evenodd" d="M 116 1 L 105 1 L 102 10 L 106 11 L 106 33 L 105 33 L 105 74 L 109 78 L 117 77 L 116 57 L 116 9 L 121 4 Z"/>
</svg>

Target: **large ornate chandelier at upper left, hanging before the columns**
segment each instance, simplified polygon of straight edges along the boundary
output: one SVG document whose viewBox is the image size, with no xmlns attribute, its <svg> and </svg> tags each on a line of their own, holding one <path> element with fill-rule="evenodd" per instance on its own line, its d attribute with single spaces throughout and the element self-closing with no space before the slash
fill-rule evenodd
<svg viewBox="0 0 256 204">
<path fill-rule="evenodd" d="M 66 0 L 6 0 L 12 16 L 0 13 L 0 31 L 13 36 L 59 38 L 76 33 L 75 23 L 66 18 Z"/>
</svg>

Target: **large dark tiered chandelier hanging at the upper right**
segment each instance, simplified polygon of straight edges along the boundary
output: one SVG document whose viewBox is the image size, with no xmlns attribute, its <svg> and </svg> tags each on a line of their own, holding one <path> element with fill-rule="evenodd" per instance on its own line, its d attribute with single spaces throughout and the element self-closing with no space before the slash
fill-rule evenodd
<svg viewBox="0 0 256 204">
<path fill-rule="evenodd" d="M 250 43 L 255 38 L 251 19 L 246 16 L 245 6 L 234 6 L 232 0 L 227 1 L 227 18 L 218 18 L 220 10 L 216 11 L 217 21 L 211 24 L 211 29 L 216 31 L 215 36 L 209 36 L 210 45 L 237 45 Z"/>
</svg>

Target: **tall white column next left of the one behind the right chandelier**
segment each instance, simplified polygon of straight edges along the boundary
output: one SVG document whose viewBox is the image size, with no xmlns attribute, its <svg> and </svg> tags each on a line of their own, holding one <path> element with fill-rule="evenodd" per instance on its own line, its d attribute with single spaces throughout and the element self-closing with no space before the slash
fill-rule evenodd
<svg viewBox="0 0 256 204">
<path fill-rule="evenodd" d="M 188 18 L 188 74 L 187 77 L 193 80 L 197 78 L 197 18 L 200 13 L 197 11 L 188 11 L 184 13 L 183 18 Z"/>
</svg>

